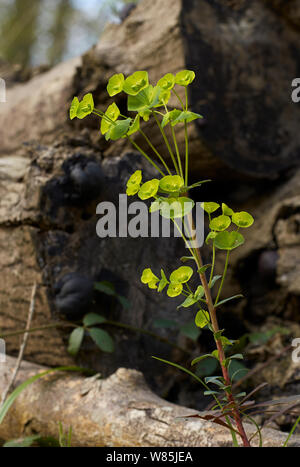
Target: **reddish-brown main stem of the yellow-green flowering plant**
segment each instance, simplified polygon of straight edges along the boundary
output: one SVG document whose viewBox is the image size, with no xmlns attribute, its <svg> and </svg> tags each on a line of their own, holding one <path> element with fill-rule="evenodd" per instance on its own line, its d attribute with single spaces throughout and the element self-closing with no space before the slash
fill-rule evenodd
<svg viewBox="0 0 300 467">
<path fill-rule="evenodd" d="M 191 213 L 188 215 L 188 222 L 189 222 L 190 232 L 194 232 L 195 227 L 194 227 L 194 221 L 193 221 L 193 217 L 192 217 Z M 197 266 L 200 269 L 203 266 L 203 261 L 202 261 L 200 250 L 198 248 L 194 248 L 193 251 L 194 251 L 194 253 L 196 255 Z M 219 324 L 218 324 L 216 309 L 214 307 L 214 303 L 213 303 L 213 300 L 212 300 L 210 288 L 208 286 L 205 273 L 200 273 L 199 272 L 199 277 L 200 277 L 201 284 L 202 284 L 203 289 L 204 289 L 205 299 L 206 299 L 206 303 L 207 303 L 207 307 L 208 307 L 208 311 L 209 311 L 209 315 L 210 315 L 212 329 L 213 329 L 214 333 L 217 333 L 220 330 L 220 328 L 219 328 Z M 216 342 L 216 346 L 217 346 L 217 349 L 218 349 L 218 357 L 219 357 L 219 362 L 220 362 L 220 365 L 221 365 L 222 374 L 223 374 L 225 384 L 226 384 L 226 386 L 231 387 L 231 381 L 230 381 L 230 377 L 229 377 L 229 374 L 228 374 L 228 369 L 226 368 L 226 366 L 224 366 L 225 353 L 224 353 L 224 348 L 223 348 L 222 341 L 221 341 L 220 338 L 218 338 L 218 339 L 215 338 L 215 342 Z M 238 408 L 236 407 L 235 399 L 234 399 L 234 396 L 233 396 L 231 390 L 230 390 L 230 392 L 226 391 L 226 396 L 227 396 L 228 402 L 232 403 L 232 405 L 233 405 L 232 415 L 234 417 L 234 420 L 235 420 L 235 423 L 236 423 L 236 426 L 237 426 L 237 430 L 238 430 L 238 432 L 239 432 L 239 434 L 240 434 L 240 436 L 242 438 L 243 445 L 244 445 L 244 447 L 251 447 L 250 442 L 249 442 L 248 437 L 247 437 L 247 434 L 245 432 L 243 423 L 242 423 L 241 415 L 239 413 Z"/>
</svg>

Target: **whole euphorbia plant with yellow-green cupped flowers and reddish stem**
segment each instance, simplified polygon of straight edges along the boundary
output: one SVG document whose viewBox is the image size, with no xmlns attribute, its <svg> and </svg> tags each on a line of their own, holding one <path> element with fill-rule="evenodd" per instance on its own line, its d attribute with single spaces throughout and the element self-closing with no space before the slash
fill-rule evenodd
<svg viewBox="0 0 300 467">
<path fill-rule="evenodd" d="M 120 92 L 125 92 L 128 95 L 128 111 L 131 112 L 131 116 L 122 115 L 115 102 L 110 104 L 105 111 L 96 109 L 92 95 L 87 94 L 81 102 L 77 97 L 74 98 L 70 109 L 70 118 L 82 119 L 90 114 L 98 116 L 101 119 L 100 131 L 107 141 L 127 138 L 156 169 L 157 178 L 148 181 L 143 181 L 142 171 L 137 170 L 128 180 L 127 195 L 137 195 L 141 200 L 151 199 L 150 212 L 159 211 L 162 217 L 174 222 L 190 252 L 190 256 L 183 257 L 181 260 L 183 262 L 190 261 L 191 264 L 195 265 L 199 284 L 194 288 L 190 285 L 195 271 L 187 265 L 177 267 L 170 275 L 166 274 L 163 269 L 158 274 L 147 267 L 142 273 L 141 281 L 159 293 L 166 290 L 167 295 L 171 298 L 183 296 L 184 301 L 178 308 L 197 307 L 195 324 L 199 328 L 206 327 L 212 332 L 216 349 L 211 354 L 201 355 L 194 359 L 191 365 L 193 366 L 205 358 L 214 358 L 220 364 L 222 375 L 211 376 L 203 381 L 186 368 L 163 359 L 158 358 L 158 360 L 178 367 L 195 377 L 204 386 L 205 394 L 212 396 L 216 402 L 213 414 L 203 418 L 226 426 L 231 431 L 235 445 L 238 445 L 236 435 L 239 435 L 243 445 L 250 446 L 242 421 L 247 410 L 245 394 L 233 394 L 233 378 L 230 378 L 228 371 L 234 359 L 243 357 L 241 354 L 226 356 L 225 349 L 230 348 L 234 341 L 225 337 L 224 329 L 219 329 L 217 310 L 223 303 L 241 296 L 236 295 L 221 299 L 230 252 L 244 243 L 244 236 L 241 232 L 253 224 L 253 217 L 247 212 L 234 212 L 224 203 L 220 205 L 215 202 L 204 202 L 202 204 L 209 220 L 210 232 L 207 235 L 206 244 L 212 249 L 211 264 L 203 264 L 199 248 L 187 239 L 185 232 L 192 233 L 194 231 L 192 216 L 194 202 L 189 198 L 189 190 L 197 188 L 207 181 L 199 181 L 189 185 L 188 124 L 202 118 L 201 115 L 191 112 L 188 106 L 188 86 L 194 78 L 193 71 L 182 70 L 176 76 L 172 73 L 166 74 L 155 86 L 152 86 L 149 84 L 146 71 L 137 71 L 126 79 L 121 73 L 115 74 L 108 82 L 108 94 L 113 97 Z M 184 89 L 184 98 L 178 92 L 178 87 Z M 178 99 L 178 108 L 168 108 L 171 94 L 174 94 Z M 150 118 L 155 120 L 161 133 L 169 153 L 168 159 L 160 154 L 141 128 L 141 121 L 147 122 Z M 175 129 L 177 125 L 184 127 L 184 157 L 180 154 L 176 140 Z M 170 141 L 165 132 L 166 126 L 170 128 Z M 143 150 L 132 138 L 132 135 L 137 132 L 144 138 L 150 152 Z M 169 161 L 172 163 L 171 168 Z M 181 229 L 182 225 L 185 229 Z M 225 252 L 224 270 L 221 275 L 215 275 L 217 250 Z M 212 294 L 213 288 L 217 289 L 215 298 Z M 214 385 L 216 389 L 212 389 L 209 385 Z M 246 417 L 251 419 L 248 415 Z"/>
</svg>

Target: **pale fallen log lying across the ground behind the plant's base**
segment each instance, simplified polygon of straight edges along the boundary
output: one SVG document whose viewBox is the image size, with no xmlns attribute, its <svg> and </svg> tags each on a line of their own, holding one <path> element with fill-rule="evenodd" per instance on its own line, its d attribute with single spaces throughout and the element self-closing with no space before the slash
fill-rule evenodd
<svg viewBox="0 0 300 467">
<path fill-rule="evenodd" d="M 9 357 L 0 368 L 0 393 L 14 363 L 15 359 Z M 18 382 L 41 369 L 24 362 Z M 135 370 L 119 368 L 104 380 L 54 374 L 21 393 L 0 425 L 0 438 L 34 433 L 57 438 L 58 423 L 63 421 L 66 429 L 72 426 L 73 446 L 231 446 L 230 433 L 223 427 L 204 420 L 176 420 L 195 413 L 153 394 Z M 253 428 L 247 426 L 247 431 L 251 434 Z M 282 446 L 286 435 L 264 429 L 263 439 L 265 447 Z M 300 446 L 299 437 L 295 436 L 290 445 Z"/>
</svg>

